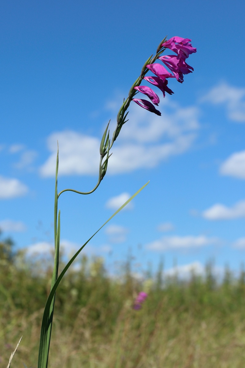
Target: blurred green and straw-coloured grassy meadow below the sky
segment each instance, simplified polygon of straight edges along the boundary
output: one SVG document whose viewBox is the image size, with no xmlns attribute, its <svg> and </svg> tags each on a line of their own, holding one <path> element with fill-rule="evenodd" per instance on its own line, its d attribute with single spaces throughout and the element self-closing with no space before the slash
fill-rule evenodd
<svg viewBox="0 0 245 368">
<path fill-rule="evenodd" d="M 23 339 L 11 367 L 37 366 L 40 326 L 52 264 L 30 262 L 0 241 L 0 367 Z M 60 265 L 62 269 L 62 264 Z M 133 309 L 138 292 L 148 298 Z M 111 277 L 101 258 L 83 256 L 58 287 L 50 345 L 52 368 L 244 367 L 245 272 L 227 269 L 217 281 L 212 265 L 188 280 L 133 277 L 130 261 Z"/>
</svg>

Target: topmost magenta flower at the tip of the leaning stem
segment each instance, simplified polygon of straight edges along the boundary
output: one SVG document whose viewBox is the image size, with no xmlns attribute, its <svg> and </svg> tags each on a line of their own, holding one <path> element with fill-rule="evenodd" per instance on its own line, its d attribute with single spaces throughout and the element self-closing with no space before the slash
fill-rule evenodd
<svg viewBox="0 0 245 368">
<path fill-rule="evenodd" d="M 197 52 L 195 47 L 191 46 L 189 38 L 182 38 L 174 36 L 164 42 L 162 47 L 167 47 L 167 49 L 173 50 L 176 54 L 178 54 L 178 59 L 186 59 L 190 54 Z"/>
</svg>

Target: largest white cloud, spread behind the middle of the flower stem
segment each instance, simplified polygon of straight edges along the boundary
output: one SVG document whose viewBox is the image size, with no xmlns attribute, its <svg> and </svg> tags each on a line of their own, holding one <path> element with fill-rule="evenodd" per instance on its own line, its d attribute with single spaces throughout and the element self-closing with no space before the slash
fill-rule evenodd
<svg viewBox="0 0 245 368">
<path fill-rule="evenodd" d="M 112 101 L 108 106 L 112 109 L 114 105 Z M 162 111 L 162 117 L 159 117 L 136 104 L 131 105 L 130 121 L 123 125 L 112 148 L 108 174 L 155 167 L 170 156 L 179 155 L 190 148 L 199 128 L 199 110 L 196 107 L 181 108 L 166 97 L 159 106 Z M 98 173 L 100 139 L 75 131 L 63 131 L 48 137 L 51 155 L 40 168 L 42 176 L 55 175 L 57 139 L 61 175 Z"/>
</svg>

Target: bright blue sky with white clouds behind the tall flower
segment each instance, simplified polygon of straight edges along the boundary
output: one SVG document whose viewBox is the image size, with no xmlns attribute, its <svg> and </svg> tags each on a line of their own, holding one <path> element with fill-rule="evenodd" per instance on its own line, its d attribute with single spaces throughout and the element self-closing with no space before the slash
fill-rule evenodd
<svg viewBox="0 0 245 368">
<path fill-rule="evenodd" d="M 2 237 L 29 255 L 51 247 L 57 139 L 58 189 L 91 190 L 107 122 L 112 132 L 123 97 L 159 42 L 180 36 L 197 47 L 188 58 L 194 72 L 183 84 L 169 81 L 174 95 L 159 94 L 161 117 L 131 103 L 98 190 L 60 197 L 61 240 L 71 255 L 150 180 L 84 252 L 103 256 L 110 270 L 129 251 L 136 272 L 156 269 L 160 259 L 166 270 L 176 262 L 180 270 L 202 270 L 210 259 L 238 270 L 245 256 L 244 7 L 2 2 Z"/>
</svg>

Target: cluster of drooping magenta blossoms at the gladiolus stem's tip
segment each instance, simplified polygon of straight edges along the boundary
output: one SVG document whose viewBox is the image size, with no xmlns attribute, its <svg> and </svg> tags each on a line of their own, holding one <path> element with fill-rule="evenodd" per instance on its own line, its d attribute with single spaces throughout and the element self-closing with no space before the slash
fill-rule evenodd
<svg viewBox="0 0 245 368">
<path fill-rule="evenodd" d="M 197 49 L 192 47 L 190 42 L 191 39 L 189 38 L 181 38 L 177 36 L 174 36 L 167 41 L 164 39 L 163 42 L 158 46 L 155 57 L 153 57 L 152 59 L 149 58 L 147 60 L 149 61 L 149 63 L 144 64 L 140 78 L 138 78 L 138 80 L 132 87 L 133 90 L 137 90 L 138 92 L 144 93 L 144 95 L 148 96 L 148 98 L 156 106 L 158 106 L 159 103 L 158 95 L 156 95 L 156 93 L 152 91 L 151 88 L 147 86 L 140 86 L 142 79 L 145 79 L 147 82 L 158 87 L 162 91 L 163 97 L 165 97 L 165 92 L 169 93 L 169 95 L 172 95 L 174 92 L 167 86 L 168 83 L 167 79 L 175 77 L 178 82 L 183 83 L 184 81 L 183 75 L 192 73 L 192 71 L 194 70 L 190 65 L 188 65 L 185 62 L 185 59 L 187 59 L 187 57 L 189 57 L 190 54 L 197 52 Z M 171 49 L 177 55 L 160 56 L 166 48 Z M 170 71 L 168 71 L 162 64 L 155 63 L 157 59 L 161 60 L 173 74 Z M 147 73 L 148 70 L 152 71 L 156 75 L 156 77 L 155 76 L 145 77 L 145 74 Z M 131 92 L 130 96 L 133 97 L 135 92 L 132 92 L 132 89 L 130 90 L 130 92 Z M 155 107 L 152 105 L 151 102 L 136 98 L 132 98 L 132 101 L 136 102 L 139 106 L 143 107 L 143 109 L 146 109 L 152 113 L 161 116 L 161 113 L 155 109 Z"/>
</svg>

